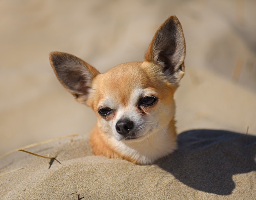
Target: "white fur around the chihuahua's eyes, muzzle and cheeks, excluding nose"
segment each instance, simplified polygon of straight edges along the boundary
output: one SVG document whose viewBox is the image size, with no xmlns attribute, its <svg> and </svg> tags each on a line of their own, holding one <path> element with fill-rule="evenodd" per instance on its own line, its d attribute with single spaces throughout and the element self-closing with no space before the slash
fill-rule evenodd
<svg viewBox="0 0 256 200">
<path fill-rule="evenodd" d="M 117 101 L 118 98 L 115 98 L 111 95 L 99 103 L 99 107 L 108 107 L 115 110 L 115 116 L 106 121 L 101 119 L 101 125 L 105 127 L 105 130 L 108 131 L 110 135 L 114 136 L 117 141 L 126 141 L 126 142 L 135 142 L 141 141 L 145 138 L 148 138 L 151 134 L 159 132 L 160 130 L 164 131 L 167 129 L 168 123 L 174 114 L 174 108 L 168 109 L 165 105 L 162 105 L 161 102 L 157 102 L 156 105 L 153 105 L 154 108 L 150 109 L 149 112 L 141 112 L 138 108 L 139 100 L 142 97 L 155 96 L 157 97 L 157 92 L 154 88 L 135 88 L 130 93 L 130 98 L 128 98 L 128 102 L 126 106 Z M 166 118 L 166 119 L 163 119 Z M 116 130 L 116 124 L 119 120 L 129 120 L 133 122 L 133 129 L 131 134 L 133 137 L 137 137 L 137 139 L 129 140 L 130 135 L 121 135 Z"/>
</svg>

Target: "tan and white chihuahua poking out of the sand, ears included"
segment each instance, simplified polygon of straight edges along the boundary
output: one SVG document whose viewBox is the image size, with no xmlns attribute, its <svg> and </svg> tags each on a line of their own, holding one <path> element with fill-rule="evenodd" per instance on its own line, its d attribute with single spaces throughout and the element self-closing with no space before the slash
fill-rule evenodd
<svg viewBox="0 0 256 200">
<path fill-rule="evenodd" d="M 95 155 L 148 165 L 177 148 L 173 95 L 184 75 L 185 52 L 182 26 L 170 16 L 144 62 L 119 64 L 101 74 L 74 55 L 49 54 L 61 84 L 97 115 L 90 135 Z"/>
</svg>

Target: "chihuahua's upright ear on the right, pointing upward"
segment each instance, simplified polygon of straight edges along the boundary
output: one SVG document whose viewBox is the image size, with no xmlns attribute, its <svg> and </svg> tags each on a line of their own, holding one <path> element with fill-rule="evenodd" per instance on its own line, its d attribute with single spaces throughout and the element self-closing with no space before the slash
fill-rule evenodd
<svg viewBox="0 0 256 200">
<path fill-rule="evenodd" d="M 178 85 L 184 75 L 185 53 L 182 26 L 176 16 L 170 16 L 155 33 L 144 61 L 158 64 L 168 80 Z"/>
</svg>

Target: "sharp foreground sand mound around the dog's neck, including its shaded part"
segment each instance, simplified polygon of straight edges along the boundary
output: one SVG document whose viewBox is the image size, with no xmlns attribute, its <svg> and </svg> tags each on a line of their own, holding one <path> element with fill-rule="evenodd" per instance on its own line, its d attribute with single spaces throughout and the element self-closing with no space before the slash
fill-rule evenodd
<svg viewBox="0 0 256 200">
<path fill-rule="evenodd" d="M 3 199 L 255 199 L 256 136 L 190 130 L 153 165 L 93 156 L 88 138 L 67 137 L 2 158 Z"/>
</svg>

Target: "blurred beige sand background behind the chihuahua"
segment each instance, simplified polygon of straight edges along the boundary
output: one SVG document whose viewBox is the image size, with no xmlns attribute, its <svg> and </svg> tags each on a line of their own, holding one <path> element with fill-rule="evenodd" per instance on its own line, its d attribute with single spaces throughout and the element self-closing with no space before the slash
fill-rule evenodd
<svg viewBox="0 0 256 200">
<path fill-rule="evenodd" d="M 88 134 L 90 108 L 74 101 L 49 64 L 51 51 L 104 72 L 142 61 L 155 31 L 177 15 L 186 73 L 177 90 L 177 130 L 256 135 L 255 0 L 0 1 L 0 155 L 30 143 Z"/>
</svg>

